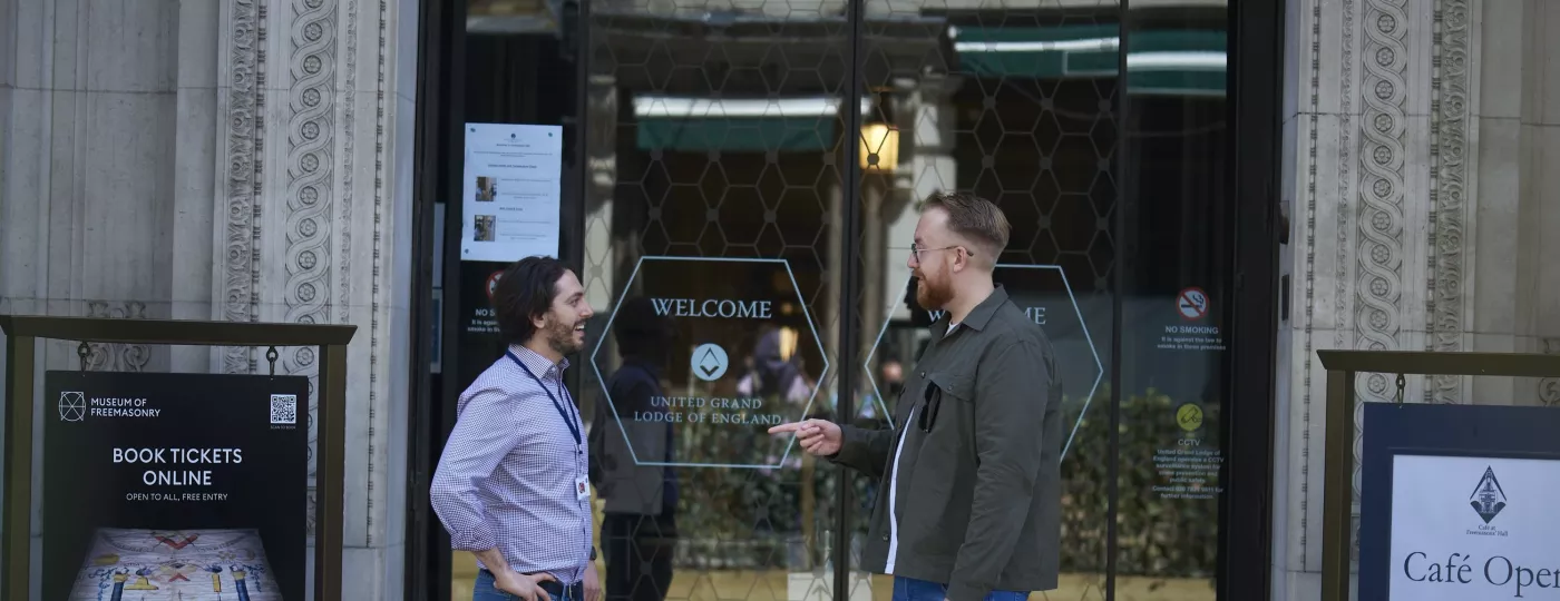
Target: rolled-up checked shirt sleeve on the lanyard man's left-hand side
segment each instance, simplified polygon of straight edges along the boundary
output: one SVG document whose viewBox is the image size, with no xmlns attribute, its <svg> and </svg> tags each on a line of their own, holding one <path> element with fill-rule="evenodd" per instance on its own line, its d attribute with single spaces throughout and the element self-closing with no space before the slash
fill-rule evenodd
<svg viewBox="0 0 1560 601">
<path fill-rule="evenodd" d="M 473 392 L 434 470 L 429 501 L 449 532 L 449 547 L 457 551 L 498 547 L 479 486 L 519 442 L 521 430 L 502 402 L 499 389 Z"/>
</svg>

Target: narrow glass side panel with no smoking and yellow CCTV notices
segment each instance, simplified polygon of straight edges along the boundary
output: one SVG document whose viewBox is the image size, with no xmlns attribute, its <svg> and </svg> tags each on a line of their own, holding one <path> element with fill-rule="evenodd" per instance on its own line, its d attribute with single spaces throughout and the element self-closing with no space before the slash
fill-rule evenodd
<svg viewBox="0 0 1560 601">
<path fill-rule="evenodd" d="M 1117 582 L 1214 599 L 1225 444 L 1225 6 L 1128 14 Z"/>
</svg>

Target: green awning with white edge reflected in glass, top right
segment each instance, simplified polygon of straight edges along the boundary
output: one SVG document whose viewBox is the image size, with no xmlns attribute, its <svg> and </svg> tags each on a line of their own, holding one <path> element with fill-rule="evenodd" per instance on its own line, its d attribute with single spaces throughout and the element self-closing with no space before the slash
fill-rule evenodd
<svg viewBox="0 0 1560 601">
<path fill-rule="evenodd" d="M 1223 95 L 1225 31 L 1134 31 L 1126 53 L 1133 93 Z M 955 31 L 959 69 L 987 78 L 1114 78 L 1117 25 L 972 26 Z"/>
</svg>

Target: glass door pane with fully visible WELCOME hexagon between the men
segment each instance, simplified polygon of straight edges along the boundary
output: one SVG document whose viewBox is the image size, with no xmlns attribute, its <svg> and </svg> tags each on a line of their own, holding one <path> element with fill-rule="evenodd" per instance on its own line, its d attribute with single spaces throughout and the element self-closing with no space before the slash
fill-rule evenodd
<svg viewBox="0 0 1560 601">
<path fill-rule="evenodd" d="M 618 308 L 593 324 L 582 395 L 591 430 L 624 447 L 604 469 L 633 475 L 630 498 L 661 497 L 627 511 L 627 492 L 599 490 L 608 595 L 828 598 L 835 472 L 766 430 L 830 406 L 846 19 L 780 0 L 594 2 L 587 25 L 583 274 Z M 644 361 L 632 322 L 660 324 L 665 357 Z M 635 361 L 657 366 L 654 388 Z M 621 391 L 635 380 L 654 392 Z"/>
</svg>

